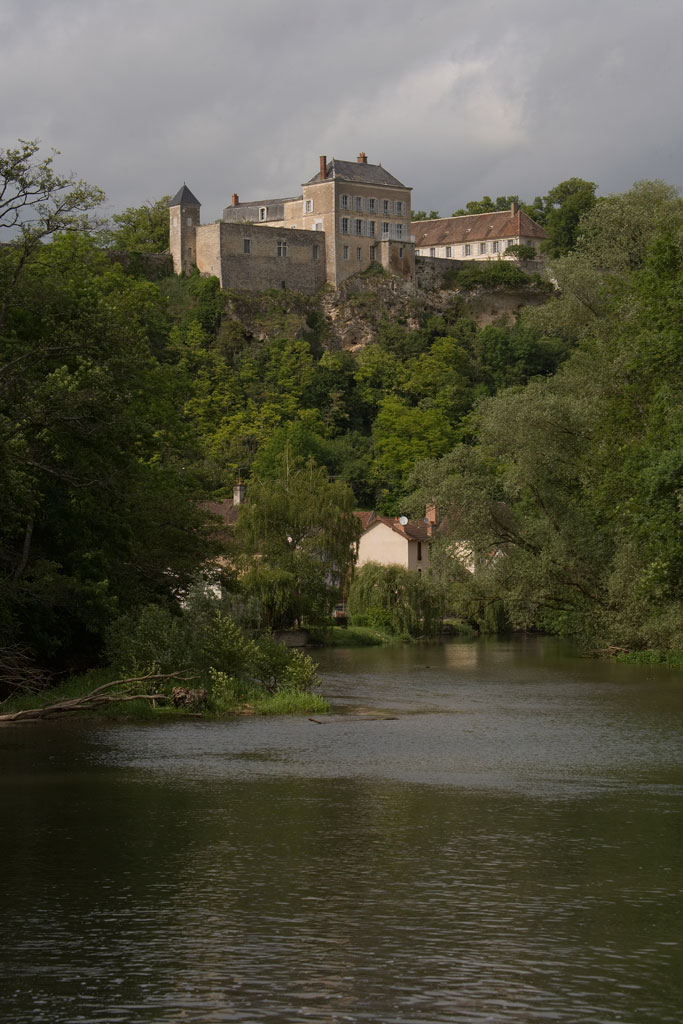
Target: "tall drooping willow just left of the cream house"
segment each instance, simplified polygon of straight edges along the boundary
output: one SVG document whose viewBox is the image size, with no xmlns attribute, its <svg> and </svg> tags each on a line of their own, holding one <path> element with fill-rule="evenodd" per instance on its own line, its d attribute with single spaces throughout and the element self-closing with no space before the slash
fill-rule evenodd
<svg viewBox="0 0 683 1024">
<path fill-rule="evenodd" d="M 263 625 L 329 622 L 353 560 L 360 524 L 344 483 L 285 453 L 279 478 L 252 480 L 236 527 L 241 584 L 258 597 Z"/>
</svg>

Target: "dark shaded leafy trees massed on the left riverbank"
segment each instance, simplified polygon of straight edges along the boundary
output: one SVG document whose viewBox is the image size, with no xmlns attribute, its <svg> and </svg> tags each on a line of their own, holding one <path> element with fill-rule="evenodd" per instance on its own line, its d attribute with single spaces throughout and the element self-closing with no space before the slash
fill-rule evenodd
<svg viewBox="0 0 683 1024">
<path fill-rule="evenodd" d="M 0 251 L 0 275 L 14 260 L 11 246 Z M 155 286 L 78 233 L 43 245 L 11 290 L 0 633 L 45 666 L 87 665 L 113 615 L 171 599 L 209 551 L 177 462 L 187 438 L 176 381 L 153 354 L 163 308 Z"/>
</svg>

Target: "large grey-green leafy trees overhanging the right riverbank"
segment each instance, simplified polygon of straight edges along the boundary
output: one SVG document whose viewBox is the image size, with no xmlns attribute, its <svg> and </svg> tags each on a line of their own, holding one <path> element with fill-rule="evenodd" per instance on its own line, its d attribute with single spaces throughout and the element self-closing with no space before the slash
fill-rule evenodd
<svg viewBox="0 0 683 1024">
<path fill-rule="evenodd" d="M 648 209 L 632 232 L 627 212 Z M 544 311 L 569 358 L 483 402 L 475 445 L 417 467 L 415 500 L 447 509 L 476 552 L 464 598 L 478 607 L 591 643 L 683 648 L 683 203 L 640 183 L 593 216 L 604 230 L 566 258 L 577 290 L 592 282 L 590 313 L 569 316 L 566 297 Z M 622 253 L 596 284 L 605 237 Z"/>
</svg>

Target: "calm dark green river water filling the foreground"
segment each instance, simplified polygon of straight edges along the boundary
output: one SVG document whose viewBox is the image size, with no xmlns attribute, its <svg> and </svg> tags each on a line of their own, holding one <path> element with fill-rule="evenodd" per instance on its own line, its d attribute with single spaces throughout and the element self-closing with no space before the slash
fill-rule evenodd
<svg viewBox="0 0 683 1024">
<path fill-rule="evenodd" d="M 680 1024 L 683 674 L 319 660 L 315 721 L 0 729 L 0 1019 Z"/>
</svg>

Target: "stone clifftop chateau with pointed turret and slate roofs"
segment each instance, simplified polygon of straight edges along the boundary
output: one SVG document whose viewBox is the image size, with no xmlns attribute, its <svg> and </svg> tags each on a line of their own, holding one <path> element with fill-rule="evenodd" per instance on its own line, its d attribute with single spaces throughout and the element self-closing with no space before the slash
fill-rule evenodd
<svg viewBox="0 0 683 1024">
<path fill-rule="evenodd" d="M 245 203 L 234 194 L 220 220 L 202 224 L 201 203 L 183 185 L 169 203 L 173 267 L 251 291 L 312 293 L 373 262 L 414 281 L 411 190 L 365 153 L 355 162 L 323 156 L 300 196 Z"/>
</svg>

